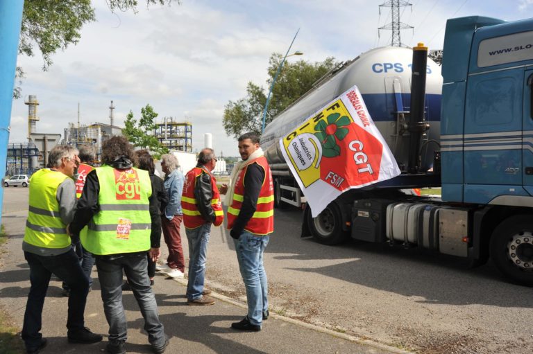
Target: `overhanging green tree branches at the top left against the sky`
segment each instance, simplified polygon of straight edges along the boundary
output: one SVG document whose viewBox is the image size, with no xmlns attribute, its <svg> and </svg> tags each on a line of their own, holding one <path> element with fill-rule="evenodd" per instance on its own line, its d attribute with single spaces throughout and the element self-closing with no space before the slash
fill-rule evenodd
<svg viewBox="0 0 533 354">
<path fill-rule="evenodd" d="M 146 0 L 146 6 L 160 3 L 169 5 L 180 0 Z M 137 12 L 137 0 L 106 0 L 111 12 L 115 10 Z M 65 50 L 71 44 L 77 44 L 81 38 L 80 31 L 84 24 L 95 21 L 91 0 L 26 0 L 22 11 L 20 28 L 19 55 L 35 55 L 35 48 L 42 54 L 42 70 L 46 71 L 52 64 L 51 56 L 58 49 Z M 17 67 L 16 80 L 21 83 L 24 71 Z M 21 88 L 15 87 L 13 98 L 20 98 Z"/>
</svg>

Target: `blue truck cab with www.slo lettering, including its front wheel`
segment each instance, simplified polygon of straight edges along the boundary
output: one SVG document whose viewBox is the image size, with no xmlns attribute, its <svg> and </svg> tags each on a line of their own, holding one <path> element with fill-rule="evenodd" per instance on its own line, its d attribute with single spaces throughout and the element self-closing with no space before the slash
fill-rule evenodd
<svg viewBox="0 0 533 354">
<path fill-rule="evenodd" d="M 468 256 L 533 284 L 533 19 L 449 19 L 442 200 L 468 213 Z"/>
</svg>

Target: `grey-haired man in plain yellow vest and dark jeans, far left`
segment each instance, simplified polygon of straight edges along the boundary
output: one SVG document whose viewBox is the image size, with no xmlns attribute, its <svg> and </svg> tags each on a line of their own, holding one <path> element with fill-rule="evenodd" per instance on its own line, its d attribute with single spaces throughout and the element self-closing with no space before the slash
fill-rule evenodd
<svg viewBox="0 0 533 354">
<path fill-rule="evenodd" d="M 28 220 L 22 249 L 30 266 L 30 292 L 24 312 L 22 339 L 26 353 L 39 353 L 46 346 L 40 333 L 42 307 L 51 274 L 65 281 L 70 289 L 67 337 L 71 343 L 95 343 L 102 340 L 85 328 L 83 312 L 89 281 L 71 247 L 67 224 L 76 207 L 74 170 L 79 163 L 78 150 L 57 145 L 49 153 L 50 168 L 33 174 L 30 181 Z"/>
</svg>

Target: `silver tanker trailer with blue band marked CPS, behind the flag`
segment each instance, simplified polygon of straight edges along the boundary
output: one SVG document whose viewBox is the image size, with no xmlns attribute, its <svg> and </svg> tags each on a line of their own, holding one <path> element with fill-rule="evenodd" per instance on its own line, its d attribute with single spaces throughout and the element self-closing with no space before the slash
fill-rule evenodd
<svg viewBox="0 0 533 354">
<path fill-rule="evenodd" d="M 412 57 L 411 48 L 400 47 L 381 47 L 362 53 L 354 60 L 339 64 L 267 125 L 261 137 L 261 146 L 271 166 L 274 200 L 278 208 L 289 204 L 299 207 L 305 202 L 305 197 L 283 159 L 279 139 L 353 85 L 359 88 L 375 125 L 394 153 L 402 171 L 394 179 L 346 191 L 316 218 L 311 218 L 306 211 L 303 236 L 310 233 L 321 243 L 335 244 L 346 238 L 350 231 L 349 221 L 355 200 L 375 197 L 391 199 L 403 194 L 401 191 L 405 189 L 440 186 L 439 174 L 425 171 L 439 168 L 441 68 L 428 58 L 425 128 L 421 134 L 421 144 L 415 152 L 410 152 Z M 415 172 L 409 170 L 409 157 L 413 159 L 413 155 L 418 160 Z"/>
</svg>

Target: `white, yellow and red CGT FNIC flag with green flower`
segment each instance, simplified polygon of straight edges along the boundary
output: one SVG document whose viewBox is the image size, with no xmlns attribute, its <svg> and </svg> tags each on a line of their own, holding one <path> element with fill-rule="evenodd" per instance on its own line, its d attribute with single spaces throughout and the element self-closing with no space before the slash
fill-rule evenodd
<svg viewBox="0 0 533 354">
<path fill-rule="evenodd" d="M 357 86 L 280 139 L 280 148 L 313 217 L 348 189 L 400 175 Z"/>
</svg>

